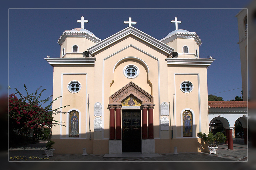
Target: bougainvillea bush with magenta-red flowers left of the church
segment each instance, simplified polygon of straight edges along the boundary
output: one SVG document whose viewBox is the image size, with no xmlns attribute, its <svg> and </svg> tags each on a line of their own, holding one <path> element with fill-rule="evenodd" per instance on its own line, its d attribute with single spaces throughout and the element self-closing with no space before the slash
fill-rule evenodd
<svg viewBox="0 0 256 170">
<path fill-rule="evenodd" d="M 37 88 L 36 93 L 28 94 L 26 85 L 24 85 L 26 94 L 23 95 L 16 88 L 17 93 L 11 94 L 9 96 L 9 128 L 10 130 L 18 130 L 20 135 L 27 137 L 27 134 L 30 129 L 33 130 L 33 137 L 36 136 L 36 132 L 40 132 L 38 130 L 41 127 L 48 127 L 51 133 L 51 127 L 55 125 L 64 126 L 62 123 L 55 121 L 52 118 L 52 114 L 60 113 L 58 109 L 67 107 L 63 106 L 58 109 L 52 110 L 52 103 L 58 100 L 60 97 L 56 98 L 53 101 L 49 99 L 52 96 L 49 96 L 45 100 L 40 100 L 40 96 L 42 95 L 43 89 L 39 94 L 39 88 Z M 18 96 L 17 96 L 18 95 Z M 48 106 L 42 107 L 43 104 L 49 102 Z M 65 112 L 61 112 L 65 113 Z M 50 134 L 49 134 L 50 136 Z M 33 139 L 34 140 L 34 139 Z M 49 140 L 49 137 L 48 137 Z"/>
</svg>

